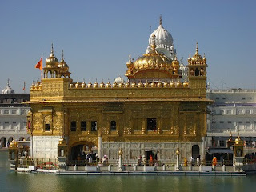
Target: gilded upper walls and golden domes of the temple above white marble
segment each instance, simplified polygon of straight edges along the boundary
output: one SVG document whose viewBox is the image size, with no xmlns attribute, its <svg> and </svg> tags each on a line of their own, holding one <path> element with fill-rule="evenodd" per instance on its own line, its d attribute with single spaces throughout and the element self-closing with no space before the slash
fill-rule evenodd
<svg viewBox="0 0 256 192">
<path fill-rule="evenodd" d="M 188 59 L 188 79 L 181 82 L 177 58 L 171 61 L 154 48 L 153 44 L 151 54 L 126 63 L 130 81 L 113 84 L 73 82 L 52 50 L 42 82 L 30 88 L 30 134 L 66 138 L 69 154 L 72 147 L 86 143 L 96 146 L 100 155 L 108 150 L 104 148 L 107 143 L 122 143 L 116 148 L 126 143 L 138 148 L 139 143 L 202 143 L 210 102 L 206 99 L 206 58 L 198 54 L 197 47 Z M 161 149 L 162 160 L 177 150 L 168 149 Z M 183 156 L 190 155 L 191 149 L 185 150 Z M 124 150 L 125 158 L 136 158 L 133 151 Z M 118 150 L 109 149 L 108 155 L 118 157 Z"/>
</svg>

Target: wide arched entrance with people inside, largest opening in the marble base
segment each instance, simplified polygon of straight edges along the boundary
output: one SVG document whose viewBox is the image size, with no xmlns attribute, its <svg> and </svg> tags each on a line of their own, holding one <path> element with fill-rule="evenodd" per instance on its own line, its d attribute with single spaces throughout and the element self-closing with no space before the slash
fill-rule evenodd
<svg viewBox="0 0 256 192">
<path fill-rule="evenodd" d="M 98 147 L 92 142 L 78 142 L 70 147 L 69 162 L 70 164 L 82 164 L 85 165 L 89 162 L 91 157 L 91 162 L 96 162 L 98 157 Z"/>
</svg>

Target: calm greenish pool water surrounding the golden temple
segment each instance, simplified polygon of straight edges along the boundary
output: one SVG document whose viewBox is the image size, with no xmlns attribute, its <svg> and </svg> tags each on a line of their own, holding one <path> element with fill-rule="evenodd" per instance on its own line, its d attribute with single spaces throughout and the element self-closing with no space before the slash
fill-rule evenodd
<svg viewBox="0 0 256 192">
<path fill-rule="evenodd" d="M 254 191 L 256 176 L 86 176 L 9 171 L 0 151 L 0 191 Z"/>
</svg>

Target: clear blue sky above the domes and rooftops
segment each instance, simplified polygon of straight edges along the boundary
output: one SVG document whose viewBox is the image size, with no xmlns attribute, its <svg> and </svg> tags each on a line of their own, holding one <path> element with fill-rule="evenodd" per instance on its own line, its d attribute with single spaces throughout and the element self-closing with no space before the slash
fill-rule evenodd
<svg viewBox="0 0 256 192">
<path fill-rule="evenodd" d="M 256 1 L 0 1 L 0 90 L 7 78 L 16 93 L 26 93 L 41 55 L 43 63 L 62 49 L 76 82 L 111 82 L 124 77 L 128 55 L 145 53 L 152 30 L 172 34 L 178 59 L 206 53 L 212 89 L 256 89 Z M 186 62 L 187 64 L 187 62 Z"/>
</svg>

